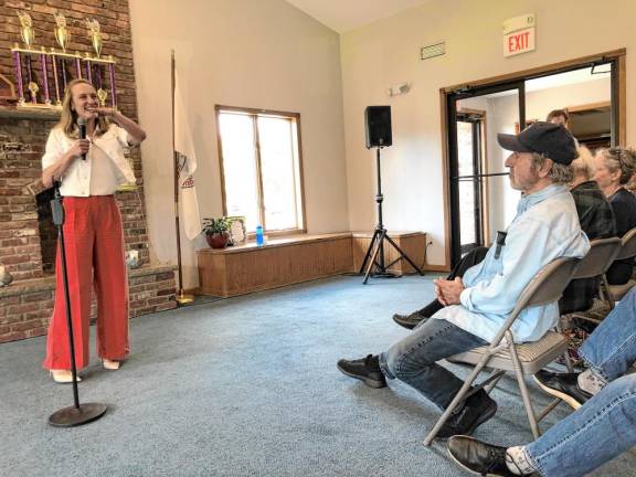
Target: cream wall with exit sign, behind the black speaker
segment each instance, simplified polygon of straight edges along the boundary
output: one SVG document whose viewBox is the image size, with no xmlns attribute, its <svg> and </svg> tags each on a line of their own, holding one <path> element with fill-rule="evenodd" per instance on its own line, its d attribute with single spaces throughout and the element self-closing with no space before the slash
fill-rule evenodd
<svg viewBox="0 0 636 477">
<path fill-rule="evenodd" d="M 537 50 L 505 59 L 501 24 L 537 15 Z M 352 229 L 374 222 L 373 156 L 364 148 L 363 109 L 390 104 L 393 144 L 383 152 L 385 223 L 424 230 L 427 259 L 444 264 L 444 202 L 439 88 L 590 54 L 636 47 L 636 2 L 614 0 L 435 0 L 341 36 L 349 218 Z M 611 26 L 608 26 L 611 25 Z M 420 61 L 420 47 L 446 41 L 446 55 Z M 627 117 L 634 117 L 636 63 L 627 55 Z M 388 86 L 411 93 L 389 98 Z M 627 123 L 627 142 L 636 123 Z"/>
</svg>

